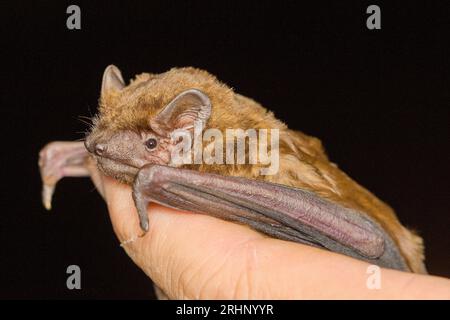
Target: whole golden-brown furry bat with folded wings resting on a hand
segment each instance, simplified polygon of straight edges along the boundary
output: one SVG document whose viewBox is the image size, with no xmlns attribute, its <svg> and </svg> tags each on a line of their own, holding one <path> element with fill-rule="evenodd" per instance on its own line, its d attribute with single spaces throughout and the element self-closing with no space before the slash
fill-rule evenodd
<svg viewBox="0 0 450 320">
<path fill-rule="evenodd" d="M 262 152 L 266 147 L 265 157 L 258 154 L 265 161 L 248 154 L 239 160 L 239 145 L 230 144 L 236 137 L 220 136 L 230 129 L 248 134 L 241 140 L 244 150 L 255 147 L 251 138 L 257 137 L 245 130 L 259 130 L 259 142 L 276 143 L 253 149 Z M 202 145 L 205 140 L 210 143 Z M 185 151 L 180 144 L 195 145 L 200 153 L 191 148 L 183 158 L 190 162 L 175 161 L 175 151 Z M 214 161 L 196 161 L 198 154 Z M 268 157 L 276 160 L 276 170 L 262 174 L 269 170 Z M 224 159 L 230 161 L 221 163 Z M 143 73 L 126 85 L 120 70 L 108 66 L 99 112 L 84 142 L 51 142 L 40 152 L 47 209 L 57 182 L 88 176 L 90 161 L 132 186 L 143 232 L 149 227 L 148 204 L 155 202 L 381 267 L 426 273 L 422 239 L 332 163 L 320 140 L 289 129 L 206 71 L 188 67 Z"/>
</svg>

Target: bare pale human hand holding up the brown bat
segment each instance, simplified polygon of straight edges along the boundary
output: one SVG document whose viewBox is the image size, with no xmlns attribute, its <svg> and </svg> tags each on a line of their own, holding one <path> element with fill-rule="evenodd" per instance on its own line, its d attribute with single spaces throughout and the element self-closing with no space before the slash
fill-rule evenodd
<svg viewBox="0 0 450 320">
<path fill-rule="evenodd" d="M 112 226 L 130 258 L 171 299 L 450 299 L 450 280 L 268 238 L 246 226 L 157 204 L 143 237 L 131 188 L 91 167 Z M 150 286 L 150 279 L 149 279 Z"/>
</svg>

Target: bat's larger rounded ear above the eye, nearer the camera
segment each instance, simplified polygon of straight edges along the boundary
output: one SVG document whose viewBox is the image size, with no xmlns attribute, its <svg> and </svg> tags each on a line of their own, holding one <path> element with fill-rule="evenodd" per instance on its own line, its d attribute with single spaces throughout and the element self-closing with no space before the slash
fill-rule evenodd
<svg viewBox="0 0 450 320">
<path fill-rule="evenodd" d="M 197 89 L 183 91 L 164 107 L 152 120 L 150 127 L 167 136 L 176 129 L 191 129 L 194 122 L 205 125 L 211 115 L 211 101 Z"/>
</svg>

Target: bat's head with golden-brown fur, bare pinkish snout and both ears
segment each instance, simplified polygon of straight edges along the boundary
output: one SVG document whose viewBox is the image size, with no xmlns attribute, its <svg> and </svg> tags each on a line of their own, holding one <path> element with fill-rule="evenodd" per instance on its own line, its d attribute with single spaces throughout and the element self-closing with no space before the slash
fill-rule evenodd
<svg viewBox="0 0 450 320">
<path fill-rule="evenodd" d="M 129 184 L 146 164 L 170 165 L 179 143 L 173 133 L 193 134 L 194 122 L 208 121 L 211 101 L 205 91 L 212 85 L 218 84 L 208 73 L 184 68 L 142 74 L 126 86 L 120 70 L 108 66 L 87 150 L 100 170 Z"/>
</svg>

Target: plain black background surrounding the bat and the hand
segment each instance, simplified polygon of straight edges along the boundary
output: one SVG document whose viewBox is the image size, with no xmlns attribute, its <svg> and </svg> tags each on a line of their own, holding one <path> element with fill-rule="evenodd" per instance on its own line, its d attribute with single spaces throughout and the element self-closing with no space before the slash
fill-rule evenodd
<svg viewBox="0 0 450 320">
<path fill-rule="evenodd" d="M 70 4 L 81 30 L 66 28 Z M 366 28 L 369 4 L 381 30 Z M 153 297 L 88 179 L 63 180 L 51 213 L 40 203 L 39 149 L 82 137 L 111 63 L 125 79 L 206 69 L 321 138 L 450 276 L 448 1 L 11 1 L 1 14 L 0 297 Z M 82 290 L 66 288 L 71 264 Z"/>
</svg>

